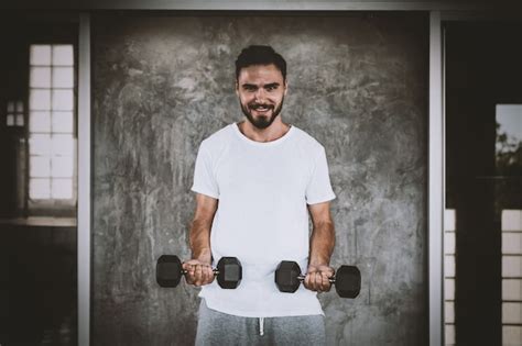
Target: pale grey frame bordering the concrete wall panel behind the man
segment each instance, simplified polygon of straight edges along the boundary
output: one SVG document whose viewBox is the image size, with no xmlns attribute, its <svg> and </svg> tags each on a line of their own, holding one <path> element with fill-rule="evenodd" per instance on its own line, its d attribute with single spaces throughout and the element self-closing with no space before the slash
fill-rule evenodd
<svg viewBox="0 0 522 346">
<path fill-rule="evenodd" d="M 505 13 L 491 14 L 474 5 L 448 2 L 133 2 L 126 9 L 142 10 L 252 10 L 252 11 L 425 11 L 429 13 L 429 110 L 428 110 L 428 186 L 427 186 L 427 257 L 428 257 L 428 333 L 429 346 L 444 345 L 444 209 L 445 209 L 445 113 L 444 113 L 444 33 L 443 21 L 504 19 Z M 155 4 L 155 5 L 154 5 Z M 241 4 L 238 8 L 238 4 Z M 91 291 L 91 60 L 90 12 L 94 4 L 79 13 L 78 42 L 78 345 L 90 345 Z M 115 4 L 108 4 L 115 9 Z M 138 8 L 137 8 L 138 7 Z M 196 7 L 196 8 L 191 8 Z M 466 12 L 467 11 L 467 12 Z M 476 12 L 469 12 L 476 11 Z M 508 11 L 507 11 L 508 12 Z M 194 13 L 194 12 L 193 12 Z"/>
</svg>

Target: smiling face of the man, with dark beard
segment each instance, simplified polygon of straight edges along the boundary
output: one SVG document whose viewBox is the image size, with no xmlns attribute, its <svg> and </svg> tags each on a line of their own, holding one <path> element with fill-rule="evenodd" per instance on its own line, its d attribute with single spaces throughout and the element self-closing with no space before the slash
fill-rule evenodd
<svg viewBox="0 0 522 346">
<path fill-rule="evenodd" d="M 250 123 L 267 129 L 281 113 L 286 83 L 275 65 L 252 65 L 239 72 L 236 93 Z"/>
</svg>

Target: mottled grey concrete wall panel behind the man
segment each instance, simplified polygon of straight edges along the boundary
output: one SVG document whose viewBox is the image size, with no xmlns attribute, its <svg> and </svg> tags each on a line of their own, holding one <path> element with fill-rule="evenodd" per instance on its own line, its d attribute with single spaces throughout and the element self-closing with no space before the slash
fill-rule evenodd
<svg viewBox="0 0 522 346">
<path fill-rule="evenodd" d="M 242 120 L 233 60 L 271 44 L 289 63 L 283 119 L 326 147 L 338 198 L 333 265 L 356 300 L 323 293 L 331 345 L 427 341 L 427 18 L 423 13 L 99 15 L 94 21 L 95 345 L 193 343 L 197 289 L 161 289 L 189 255 L 199 143 Z"/>
</svg>

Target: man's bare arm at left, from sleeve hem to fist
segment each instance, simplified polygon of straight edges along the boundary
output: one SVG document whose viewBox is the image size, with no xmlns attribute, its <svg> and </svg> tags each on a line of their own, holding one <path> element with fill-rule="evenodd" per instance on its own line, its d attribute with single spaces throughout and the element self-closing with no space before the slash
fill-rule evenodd
<svg viewBox="0 0 522 346">
<path fill-rule="evenodd" d="M 185 276 L 187 282 L 195 286 L 207 284 L 214 281 L 210 228 L 217 205 L 217 199 L 197 193 L 196 212 L 189 233 L 192 259 L 183 264 L 183 268 L 187 270 Z"/>
</svg>

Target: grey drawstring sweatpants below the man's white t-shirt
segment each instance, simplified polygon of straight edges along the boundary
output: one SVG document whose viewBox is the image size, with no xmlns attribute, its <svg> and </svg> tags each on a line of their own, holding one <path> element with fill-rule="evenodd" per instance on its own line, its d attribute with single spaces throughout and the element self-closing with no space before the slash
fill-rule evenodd
<svg viewBox="0 0 522 346">
<path fill-rule="evenodd" d="M 323 315 L 241 317 L 199 304 L 196 346 L 326 345 Z"/>
</svg>

